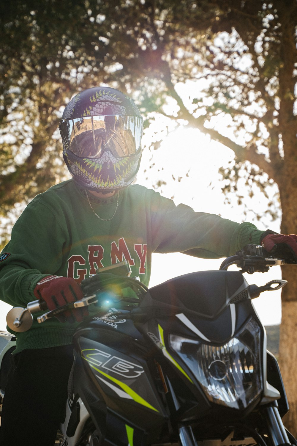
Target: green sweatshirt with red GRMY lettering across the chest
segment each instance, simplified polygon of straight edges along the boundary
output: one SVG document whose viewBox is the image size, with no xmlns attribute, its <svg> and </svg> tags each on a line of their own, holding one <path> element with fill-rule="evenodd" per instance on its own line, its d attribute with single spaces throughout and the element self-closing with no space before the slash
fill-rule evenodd
<svg viewBox="0 0 297 446">
<path fill-rule="evenodd" d="M 132 185 L 111 198 L 95 198 L 73 180 L 37 195 L 12 229 L 11 241 L 0 255 L 0 299 L 27 306 L 36 299 L 34 288 L 54 274 L 80 282 L 96 268 L 128 260 L 133 276 L 148 285 L 152 252 L 184 252 L 219 258 L 248 243 L 259 243 L 264 231 L 251 223 L 235 223 L 218 215 L 162 197 L 154 190 Z M 116 209 L 117 207 L 117 209 Z M 112 215 L 115 215 L 112 219 Z M 98 219 L 96 212 L 103 219 Z M 14 333 L 16 352 L 72 343 L 77 324 L 52 320 Z"/>
</svg>

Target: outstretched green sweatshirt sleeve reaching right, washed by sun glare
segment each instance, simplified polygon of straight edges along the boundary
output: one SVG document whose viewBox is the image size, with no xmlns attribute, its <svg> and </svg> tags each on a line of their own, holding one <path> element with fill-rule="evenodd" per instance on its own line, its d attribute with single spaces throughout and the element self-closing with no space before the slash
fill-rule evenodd
<svg viewBox="0 0 297 446">
<path fill-rule="evenodd" d="M 152 252 L 183 252 L 216 259 L 230 256 L 248 243 L 260 243 L 264 231 L 252 223 L 236 223 L 219 215 L 195 212 L 155 193 L 151 201 Z"/>
</svg>

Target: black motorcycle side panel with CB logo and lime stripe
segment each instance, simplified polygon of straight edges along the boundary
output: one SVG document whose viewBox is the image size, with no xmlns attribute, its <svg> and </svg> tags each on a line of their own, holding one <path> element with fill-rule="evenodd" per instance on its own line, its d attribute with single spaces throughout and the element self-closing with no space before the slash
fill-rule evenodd
<svg viewBox="0 0 297 446">
<path fill-rule="evenodd" d="M 122 323 L 127 329 L 125 333 L 124 328 L 117 330 L 99 318 L 93 318 L 78 327 L 73 343 L 84 373 L 92 380 L 97 395 L 99 392 L 102 396 L 107 408 L 106 417 L 116 413 L 130 426 L 154 436 L 168 417 L 147 363 L 154 349 L 140 333 L 138 338 L 142 342 L 127 334 L 132 321 L 126 322 Z M 135 331 L 135 327 L 131 329 L 133 335 Z M 80 384 L 80 388 L 80 395 L 83 395 L 86 392 L 84 384 Z M 96 404 L 91 402 L 93 413 Z M 98 416 L 101 410 L 98 408 Z"/>
</svg>

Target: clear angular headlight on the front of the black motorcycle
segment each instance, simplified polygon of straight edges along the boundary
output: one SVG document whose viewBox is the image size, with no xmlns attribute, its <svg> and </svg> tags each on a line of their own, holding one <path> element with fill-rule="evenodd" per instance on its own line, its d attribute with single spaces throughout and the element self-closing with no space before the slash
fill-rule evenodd
<svg viewBox="0 0 297 446">
<path fill-rule="evenodd" d="M 216 404 L 244 409 L 262 391 L 260 327 L 251 319 L 236 338 L 224 345 L 176 335 L 169 343 Z"/>
</svg>

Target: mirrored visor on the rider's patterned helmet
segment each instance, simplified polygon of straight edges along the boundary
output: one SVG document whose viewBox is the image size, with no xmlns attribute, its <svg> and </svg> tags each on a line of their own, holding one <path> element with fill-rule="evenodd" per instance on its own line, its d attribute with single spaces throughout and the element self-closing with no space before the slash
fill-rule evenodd
<svg viewBox="0 0 297 446">
<path fill-rule="evenodd" d="M 60 124 L 63 142 L 82 158 L 99 158 L 109 149 L 115 157 L 134 155 L 142 137 L 140 116 L 87 116 Z"/>
</svg>

